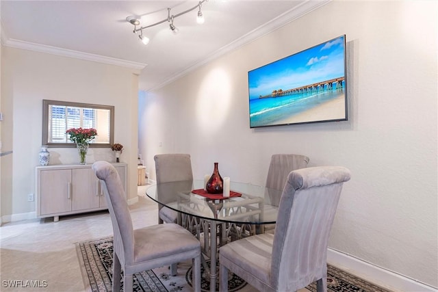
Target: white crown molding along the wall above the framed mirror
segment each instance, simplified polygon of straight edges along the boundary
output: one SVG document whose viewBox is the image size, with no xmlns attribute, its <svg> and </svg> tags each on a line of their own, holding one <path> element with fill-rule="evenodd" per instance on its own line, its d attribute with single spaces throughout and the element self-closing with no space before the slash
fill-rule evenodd
<svg viewBox="0 0 438 292">
<path fill-rule="evenodd" d="M 3 43 L 3 34 L 2 43 Z M 136 70 L 142 70 L 147 64 L 142 64 L 138 62 L 131 62 L 123 59 L 116 59 L 113 57 L 105 57 L 101 55 L 94 55 L 90 53 L 83 53 L 79 51 L 73 51 L 68 49 L 61 49 L 57 47 L 47 46 L 45 44 L 36 44 L 34 42 L 25 42 L 23 40 L 6 39 L 4 42 L 6 47 L 12 47 L 16 49 L 25 49 L 29 51 L 36 51 L 40 53 L 48 53 L 51 55 L 60 55 L 64 57 L 73 57 L 76 59 L 83 59 L 86 61 L 98 62 L 103 64 L 110 64 L 116 66 L 122 66 L 127 68 L 133 68 Z"/>
</svg>

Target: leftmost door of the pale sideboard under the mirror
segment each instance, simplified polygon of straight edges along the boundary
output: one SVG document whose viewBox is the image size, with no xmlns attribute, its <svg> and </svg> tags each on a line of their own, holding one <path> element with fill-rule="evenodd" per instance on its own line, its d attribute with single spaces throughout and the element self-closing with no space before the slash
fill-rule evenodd
<svg viewBox="0 0 438 292">
<path fill-rule="evenodd" d="M 71 211 L 71 170 L 41 172 L 41 215 Z"/>
</svg>

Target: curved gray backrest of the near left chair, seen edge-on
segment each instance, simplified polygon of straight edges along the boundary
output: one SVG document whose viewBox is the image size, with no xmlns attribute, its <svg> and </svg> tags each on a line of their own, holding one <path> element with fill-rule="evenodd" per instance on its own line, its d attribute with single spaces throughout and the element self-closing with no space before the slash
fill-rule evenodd
<svg viewBox="0 0 438 292">
<path fill-rule="evenodd" d="M 107 161 L 94 162 L 92 170 L 101 180 L 103 193 L 110 211 L 114 232 L 114 252 L 118 255 L 122 266 L 133 263 L 133 225 L 120 176 L 118 176 L 114 166 Z"/>
</svg>

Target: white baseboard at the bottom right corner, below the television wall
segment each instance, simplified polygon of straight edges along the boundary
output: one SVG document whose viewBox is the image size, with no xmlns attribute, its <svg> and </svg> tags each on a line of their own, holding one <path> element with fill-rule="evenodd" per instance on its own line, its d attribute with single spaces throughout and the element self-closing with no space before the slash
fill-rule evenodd
<svg viewBox="0 0 438 292">
<path fill-rule="evenodd" d="M 437 292 L 438 289 L 329 248 L 327 263 L 391 291 Z"/>
</svg>

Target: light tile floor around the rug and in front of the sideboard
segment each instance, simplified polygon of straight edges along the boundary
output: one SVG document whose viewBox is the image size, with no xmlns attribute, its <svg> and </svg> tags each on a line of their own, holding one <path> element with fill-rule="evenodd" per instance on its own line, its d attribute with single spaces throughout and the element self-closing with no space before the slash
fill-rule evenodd
<svg viewBox="0 0 438 292">
<path fill-rule="evenodd" d="M 147 186 L 138 187 L 144 194 Z M 129 207 L 134 228 L 157 224 L 157 204 L 139 196 Z M 85 291 L 75 243 L 112 235 L 107 211 L 23 220 L 0 227 L 0 291 Z M 8 287 L 22 280 L 21 287 Z M 40 287 L 23 287 L 32 280 Z M 45 284 L 47 283 L 47 287 Z M 246 285 L 242 292 L 256 291 Z M 307 291 L 302 289 L 300 292 Z M 308 291 L 307 291 L 308 292 Z"/>
</svg>

